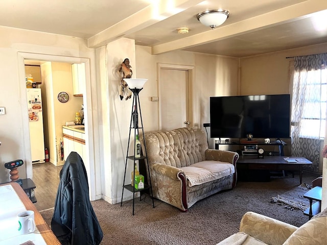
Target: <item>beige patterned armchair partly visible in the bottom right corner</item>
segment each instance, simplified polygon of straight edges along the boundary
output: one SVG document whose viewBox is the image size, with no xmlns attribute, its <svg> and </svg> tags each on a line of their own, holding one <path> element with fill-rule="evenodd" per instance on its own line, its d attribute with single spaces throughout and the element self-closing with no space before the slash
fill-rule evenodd
<svg viewBox="0 0 327 245">
<path fill-rule="evenodd" d="M 321 245 L 327 244 L 327 209 L 299 228 L 259 213 L 243 215 L 240 232 L 217 245 Z"/>
</svg>

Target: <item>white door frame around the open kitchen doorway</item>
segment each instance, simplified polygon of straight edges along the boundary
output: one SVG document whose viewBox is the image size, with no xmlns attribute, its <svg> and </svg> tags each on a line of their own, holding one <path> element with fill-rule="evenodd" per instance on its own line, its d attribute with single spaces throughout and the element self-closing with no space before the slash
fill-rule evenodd
<svg viewBox="0 0 327 245">
<path fill-rule="evenodd" d="M 85 75 L 86 75 L 86 98 L 83 99 L 85 103 L 85 108 L 92 108 L 91 100 L 91 83 L 90 83 L 90 61 L 88 58 L 79 58 L 79 57 L 67 57 L 67 56 L 56 56 L 56 55 L 46 55 L 46 54 L 36 54 L 36 53 L 25 53 L 18 52 L 18 78 L 19 78 L 19 90 L 20 90 L 20 105 L 22 110 L 22 131 L 23 135 L 26 135 L 22 141 L 22 147 L 26 152 L 26 175 L 27 178 L 33 178 L 33 167 L 32 167 L 32 156 L 31 156 L 31 145 L 30 145 L 30 134 L 29 134 L 29 120 L 28 120 L 28 111 L 27 111 L 27 94 L 26 94 L 26 84 L 22 81 L 25 81 L 25 60 L 39 60 L 39 61 L 49 61 L 49 62 L 62 62 L 62 63 L 85 63 Z M 95 145 L 93 135 L 94 125 L 93 125 L 93 115 L 92 113 L 87 113 L 89 110 L 85 110 L 85 116 L 87 121 L 87 130 L 85 131 L 85 141 L 87 142 L 86 149 L 88 153 L 88 162 L 89 162 L 89 191 L 91 200 L 95 200 L 96 197 L 96 173 L 95 171 Z M 90 140 L 91 139 L 91 140 Z"/>
</svg>

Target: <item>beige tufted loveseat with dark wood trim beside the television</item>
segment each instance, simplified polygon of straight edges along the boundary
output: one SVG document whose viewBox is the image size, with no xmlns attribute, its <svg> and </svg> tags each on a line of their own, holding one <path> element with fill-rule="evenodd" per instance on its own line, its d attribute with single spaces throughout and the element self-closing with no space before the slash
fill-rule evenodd
<svg viewBox="0 0 327 245">
<path fill-rule="evenodd" d="M 148 157 L 147 175 L 151 178 L 153 197 L 182 211 L 236 185 L 239 155 L 208 149 L 201 129 L 154 131 L 140 137 L 140 141 L 143 154 Z"/>
</svg>

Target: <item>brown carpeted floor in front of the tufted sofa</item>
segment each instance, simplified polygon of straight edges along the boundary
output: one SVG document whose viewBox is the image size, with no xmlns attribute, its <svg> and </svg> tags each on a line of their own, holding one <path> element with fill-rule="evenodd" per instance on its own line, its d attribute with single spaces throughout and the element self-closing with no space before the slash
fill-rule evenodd
<svg viewBox="0 0 327 245">
<path fill-rule="evenodd" d="M 303 175 L 303 183 L 311 184 L 316 176 Z M 272 177 L 270 182 L 238 182 L 229 191 L 220 192 L 194 204 L 188 212 L 155 200 L 148 195 L 132 201 L 110 205 L 103 200 L 92 202 L 104 238 L 101 244 L 187 244 L 214 245 L 238 232 L 240 220 L 247 211 L 254 211 L 295 226 L 308 221 L 299 209 L 271 203 L 272 197 L 296 190 L 299 178 Z M 306 201 L 306 200 L 304 200 Z M 41 211 L 50 225 L 53 209 Z"/>
</svg>

